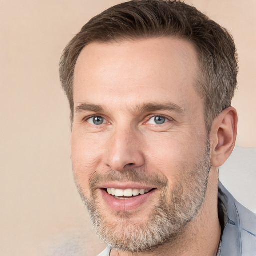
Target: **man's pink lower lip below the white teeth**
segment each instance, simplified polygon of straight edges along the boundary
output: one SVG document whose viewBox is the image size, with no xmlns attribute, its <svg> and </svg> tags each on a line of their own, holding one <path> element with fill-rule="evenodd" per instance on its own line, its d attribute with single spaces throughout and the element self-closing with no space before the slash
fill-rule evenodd
<svg viewBox="0 0 256 256">
<path fill-rule="evenodd" d="M 134 197 L 127 197 L 127 199 L 117 199 L 113 197 L 111 194 L 108 194 L 104 189 L 100 189 L 103 199 L 112 210 L 119 211 L 130 211 L 134 209 L 138 209 L 138 207 L 142 206 L 148 199 L 151 197 L 156 189 L 151 190 L 150 192 Z"/>
</svg>

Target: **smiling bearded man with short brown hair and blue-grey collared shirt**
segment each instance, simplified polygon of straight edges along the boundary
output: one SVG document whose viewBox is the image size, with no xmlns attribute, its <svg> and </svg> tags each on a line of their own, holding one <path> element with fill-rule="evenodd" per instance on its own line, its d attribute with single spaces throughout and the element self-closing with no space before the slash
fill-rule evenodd
<svg viewBox="0 0 256 256">
<path fill-rule="evenodd" d="M 69 42 L 73 172 L 100 255 L 255 256 L 255 215 L 218 182 L 236 75 L 229 33 L 179 1 L 113 6 Z"/>
</svg>

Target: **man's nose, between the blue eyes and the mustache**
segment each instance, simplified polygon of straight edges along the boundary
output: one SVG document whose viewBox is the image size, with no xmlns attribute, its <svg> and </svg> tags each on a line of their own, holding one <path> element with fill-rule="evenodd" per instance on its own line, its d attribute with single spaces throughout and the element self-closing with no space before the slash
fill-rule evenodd
<svg viewBox="0 0 256 256">
<path fill-rule="evenodd" d="M 115 128 L 105 149 L 105 164 L 115 171 L 140 167 L 145 163 L 141 136 L 131 128 Z"/>
</svg>

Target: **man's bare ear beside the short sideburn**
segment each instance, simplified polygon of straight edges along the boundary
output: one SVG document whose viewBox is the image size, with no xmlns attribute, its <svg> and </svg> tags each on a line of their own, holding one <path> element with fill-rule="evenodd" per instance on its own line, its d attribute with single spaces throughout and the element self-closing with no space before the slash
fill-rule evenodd
<svg viewBox="0 0 256 256">
<path fill-rule="evenodd" d="M 232 106 L 212 122 L 210 131 L 211 166 L 219 167 L 233 151 L 237 133 L 237 112 Z"/>
</svg>

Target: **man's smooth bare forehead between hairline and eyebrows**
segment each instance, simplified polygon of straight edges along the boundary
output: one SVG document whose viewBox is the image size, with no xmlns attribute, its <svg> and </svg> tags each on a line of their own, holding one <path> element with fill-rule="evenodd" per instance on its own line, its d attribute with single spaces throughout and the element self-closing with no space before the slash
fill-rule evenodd
<svg viewBox="0 0 256 256">
<path fill-rule="evenodd" d="M 119 105 L 162 99 L 183 107 L 188 98 L 201 100 L 194 86 L 197 75 L 197 53 L 185 40 L 163 37 L 91 43 L 75 65 L 74 104 L 99 104 L 102 98 Z"/>
</svg>

